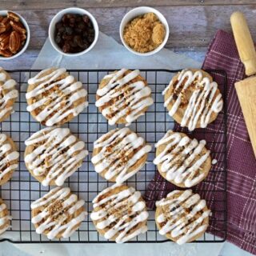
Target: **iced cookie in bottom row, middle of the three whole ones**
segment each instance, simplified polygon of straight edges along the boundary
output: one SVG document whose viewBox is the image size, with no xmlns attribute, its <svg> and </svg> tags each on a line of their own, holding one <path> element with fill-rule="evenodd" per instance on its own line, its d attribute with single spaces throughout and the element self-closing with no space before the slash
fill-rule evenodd
<svg viewBox="0 0 256 256">
<path fill-rule="evenodd" d="M 98 194 L 93 203 L 90 218 L 104 238 L 122 243 L 146 233 L 146 203 L 133 187 L 115 184 Z"/>
</svg>

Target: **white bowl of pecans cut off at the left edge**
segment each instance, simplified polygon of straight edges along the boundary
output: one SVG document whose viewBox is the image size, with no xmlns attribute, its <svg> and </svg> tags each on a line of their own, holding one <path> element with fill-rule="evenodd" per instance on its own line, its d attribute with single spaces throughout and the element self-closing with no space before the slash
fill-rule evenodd
<svg viewBox="0 0 256 256">
<path fill-rule="evenodd" d="M 30 28 L 21 15 L 0 10 L 0 60 L 21 55 L 30 42 Z"/>
</svg>

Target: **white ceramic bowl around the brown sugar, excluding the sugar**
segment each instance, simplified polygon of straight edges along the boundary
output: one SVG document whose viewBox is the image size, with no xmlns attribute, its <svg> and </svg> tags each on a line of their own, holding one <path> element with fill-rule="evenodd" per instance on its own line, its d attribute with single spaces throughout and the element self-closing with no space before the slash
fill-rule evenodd
<svg viewBox="0 0 256 256">
<path fill-rule="evenodd" d="M 147 13 L 154 13 L 157 15 L 157 17 L 159 18 L 160 22 L 162 22 L 162 24 L 165 26 L 166 28 L 166 36 L 162 42 L 162 44 L 160 46 L 158 46 L 158 48 L 150 51 L 150 52 L 147 52 L 147 53 L 139 53 L 138 51 L 135 51 L 133 49 L 130 48 L 130 46 L 128 46 L 125 42 L 125 40 L 123 39 L 123 30 L 126 26 L 126 24 L 128 22 L 130 22 L 132 19 L 138 17 L 139 15 L 142 15 L 142 14 L 147 14 Z M 130 52 L 132 52 L 133 54 L 137 54 L 137 55 L 140 55 L 140 56 L 150 56 L 152 54 L 156 54 L 159 50 L 162 50 L 162 48 L 166 45 L 166 42 L 169 38 L 169 26 L 168 26 L 168 23 L 166 21 L 166 18 L 156 9 L 154 8 L 151 8 L 151 7 L 147 7 L 147 6 L 141 6 L 141 7 L 137 7 L 137 8 L 134 8 L 132 10 L 130 10 L 125 16 L 124 18 L 122 18 L 122 22 L 120 24 L 120 28 L 119 28 L 119 34 L 120 34 L 120 38 L 122 40 L 122 44 L 124 46 L 126 46 L 126 49 L 130 50 Z"/>
</svg>

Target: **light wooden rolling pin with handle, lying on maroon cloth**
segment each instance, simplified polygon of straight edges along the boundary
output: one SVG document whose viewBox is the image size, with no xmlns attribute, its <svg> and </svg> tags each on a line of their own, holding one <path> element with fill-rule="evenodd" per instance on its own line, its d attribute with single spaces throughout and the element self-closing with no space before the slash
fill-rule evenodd
<svg viewBox="0 0 256 256">
<path fill-rule="evenodd" d="M 246 75 L 256 74 L 256 51 L 246 18 L 241 12 L 234 12 L 230 22 L 239 56 L 246 69 Z M 252 76 L 236 82 L 234 86 L 256 157 L 256 77 Z"/>
</svg>

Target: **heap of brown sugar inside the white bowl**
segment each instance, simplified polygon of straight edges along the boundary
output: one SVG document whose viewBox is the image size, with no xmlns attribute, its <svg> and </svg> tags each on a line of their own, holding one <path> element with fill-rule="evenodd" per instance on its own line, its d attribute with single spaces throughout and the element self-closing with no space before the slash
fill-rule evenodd
<svg viewBox="0 0 256 256">
<path fill-rule="evenodd" d="M 128 46 L 139 53 L 147 53 L 160 46 L 166 29 L 153 13 L 143 14 L 128 22 L 123 38 Z"/>
</svg>

